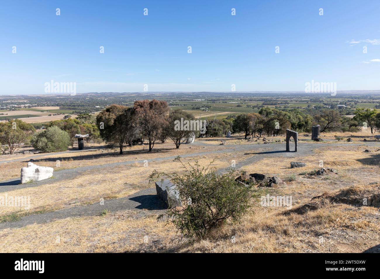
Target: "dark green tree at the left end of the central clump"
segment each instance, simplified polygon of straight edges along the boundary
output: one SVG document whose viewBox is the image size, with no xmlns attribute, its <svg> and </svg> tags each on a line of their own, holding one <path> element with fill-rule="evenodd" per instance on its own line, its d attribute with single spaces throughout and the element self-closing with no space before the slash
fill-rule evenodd
<svg viewBox="0 0 380 279">
<path fill-rule="evenodd" d="M 101 138 L 110 145 L 117 145 L 123 154 L 123 145 L 130 140 L 133 109 L 112 104 L 97 115 L 96 122 Z"/>
</svg>

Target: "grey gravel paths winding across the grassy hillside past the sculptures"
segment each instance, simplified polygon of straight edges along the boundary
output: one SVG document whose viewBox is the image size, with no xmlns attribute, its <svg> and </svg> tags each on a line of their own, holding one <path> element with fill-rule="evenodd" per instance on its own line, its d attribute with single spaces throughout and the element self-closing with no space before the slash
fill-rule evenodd
<svg viewBox="0 0 380 279">
<path fill-rule="evenodd" d="M 205 142 L 196 141 L 193 143 L 194 145 L 201 145 L 201 146 L 207 146 L 207 147 L 216 147 L 216 145 L 207 144 Z M 240 162 L 236 162 L 236 169 L 239 169 L 243 166 L 252 164 L 253 162 L 260 161 L 263 158 L 268 157 L 285 157 L 285 158 L 293 158 L 293 157 L 301 157 L 301 156 L 308 156 L 310 154 L 313 154 L 313 150 L 317 149 L 319 147 L 336 147 L 336 146 L 368 146 L 368 147 L 374 147 L 379 146 L 379 143 L 377 142 L 366 142 L 366 143 L 345 143 L 342 144 L 336 144 L 336 143 L 313 143 L 313 142 L 300 142 L 298 152 L 286 152 L 285 149 L 285 143 L 271 143 L 271 144 L 246 144 L 246 145 L 219 145 L 218 147 L 222 147 L 224 149 L 222 150 L 213 150 L 213 151 L 204 151 L 204 152 L 197 152 L 192 154 L 185 154 L 181 155 L 181 157 L 193 157 L 193 156 L 204 156 L 204 155 L 210 155 L 210 154 L 218 154 L 218 153 L 225 153 L 225 152 L 234 152 L 234 151 L 247 151 L 245 154 L 252 154 L 253 156 L 250 156 L 247 159 L 244 159 Z M 260 150 L 260 152 L 258 152 Z M 58 154 L 58 153 L 55 153 Z M 44 154 L 46 156 L 46 154 Z M 168 156 L 163 158 L 155 158 L 155 159 L 149 159 L 148 162 L 158 162 L 158 161 L 166 161 L 166 160 L 173 160 L 176 158 L 176 156 Z M 25 160 L 25 158 L 23 158 Z M 67 178 L 73 179 L 76 176 L 80 175 L 82 172 L 85 172 L 87 170 L 93 170 L 98 168 L 104 168 L 104 167 L 114 167 L 114 166 L 121 166 L 126 164 L 133 164 L 135 162 L 143 163 L 144 160 L 137 160 L 137 161 L 126 161 L 126 162 L 117 162 L 117 163 L 108 163 L 108 164 L 102 164 L 98 166 L 86 166 L 86 167 L 78 167 L 75 169 L 67 169 L 67 170 L 60 170 L 57 172 L 54 172 L 55 179 L 53 182 L 65 180 Z M 226 169 L 220 169 L 220 172 L 226 171 Z M 37 187 L 42 184 L 51 183 L 52 180 L 42 180 L 38 181 L 32 184 L 20 184 L 20 180 L 8 180 L 0 183 L 0 192 L 6 192 L 11 191 L 14 189 L 22 189 L 22 188 L 28 188 L 28 187 Z M 110 199 L 105 200 L 104 205 L 100 205 L 100 203 L 94 203 L 92 205 L 78 205 L 73 206 L 70 208 L 65 208 L 61 210 L 55 210 L 47 213 L 41 213 L 41 214 L 35 214 L 35 215 L 29 215 L 21 218 L 20 221 L 17 222 L 5 222 L 0 224 L 0 229 L 5 228 L 15 228 L 15 227 L 24 227 L 25 225 L 30 224 L 43 224 L 47 222 L 51 222 L 57 219 L 63 219 L 68 217 L 80 217 L 80 216 L 96 216 L 101 214 L 101 212 L 105 209 L 110 210 L 111 212 L 116 212 L 119 210 L 137 210 L 136 216 L 144 216 L 145 214 L 150 214 L 149 212 L 154 213 L 161 213 L 163 210 L 165 210 L 165 205 L 157 198 L 156 192 L 154 188 L 149 189 L 143 189 L 139 192 L 136 192 L 135 194 L 132 194 L 128 197 L 123 197 L 119 199 Z M 147 209 L 147 210 L 142 210 Z"/>
</svg>

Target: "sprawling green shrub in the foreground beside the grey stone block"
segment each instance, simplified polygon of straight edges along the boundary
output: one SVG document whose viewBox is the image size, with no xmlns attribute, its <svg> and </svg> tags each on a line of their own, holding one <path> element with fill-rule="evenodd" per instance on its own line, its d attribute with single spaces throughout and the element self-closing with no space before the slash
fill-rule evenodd
<svg viewBox="0 0 380 279">
<path fill-rule="evenodd" d="M 180 161 L 178 156 L 174 161 Z M 181 162 L 182 163 L 182 162 Z M 252 205 L 252 185 L 244 185 L 235 181 L 236 174 L 230 171 L 223 175 L 214 168 L 183 164 L 184 173 L 168 175 L 156 170 L 150 180 L 160 176 L 166 177 L 176 185 L 181 208 L 169 207 L 164 216 L 168 223 L 177 229 L 177 240 L 202 239 L 212 229 L 226 223 L 238 221 Z"/>
</svg>

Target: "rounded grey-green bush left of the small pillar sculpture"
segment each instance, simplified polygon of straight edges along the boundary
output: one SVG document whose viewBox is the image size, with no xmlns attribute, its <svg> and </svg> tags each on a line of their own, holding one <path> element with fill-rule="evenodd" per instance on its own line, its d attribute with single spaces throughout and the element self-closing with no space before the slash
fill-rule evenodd
<svg viewBox="0 0 380 279">
<path fill-rule="evenodd" d="M 34 134 L 30 143 L 33 148 L 43 152 L 66 151 L 70 145 L 70 136 L 57 126 L 52 126 Z"/>
</svg>

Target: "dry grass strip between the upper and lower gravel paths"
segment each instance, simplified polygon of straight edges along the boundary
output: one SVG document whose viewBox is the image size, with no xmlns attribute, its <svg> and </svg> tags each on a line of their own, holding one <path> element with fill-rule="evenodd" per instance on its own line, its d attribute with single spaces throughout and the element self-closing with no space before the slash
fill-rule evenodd
<svg viewBox="0 0 380 279">
<path fill-rule="evenodd" d="M 184 158 L 183 162 L 199 161 L 199 164 L 208 165 L 212 159 L 206 156 L 202 158 Z M 212 166 L 215 168 L 228 167 L 229 161 L 216 160 Z M 29 212 L 37 210 L 57 210 L 67 206 L 84 203 L 93 203 L 100 198 L 119 198 L 133 194 L 144 188 L 152 188 L 148 184 L 149 175 L 153 170 L 172 173 L 181 167 L 179 162 L 162 161 L 149 162 L 148 166 L 136 164 L 132 166 L 118 166 L 107 169 L 90 170 L 81 173 L 80 176 L 68 177 L 66 180 L 43 184 L 38 187 L 27 187 L 13 191 L 2 192 L 8 196 L 30 196 Z M 54 176 L 53 176 L 54 177 Z M 2 207 L 0 216 L 16 212 L 25 212 L 19 207 Z"/>
</svg>

